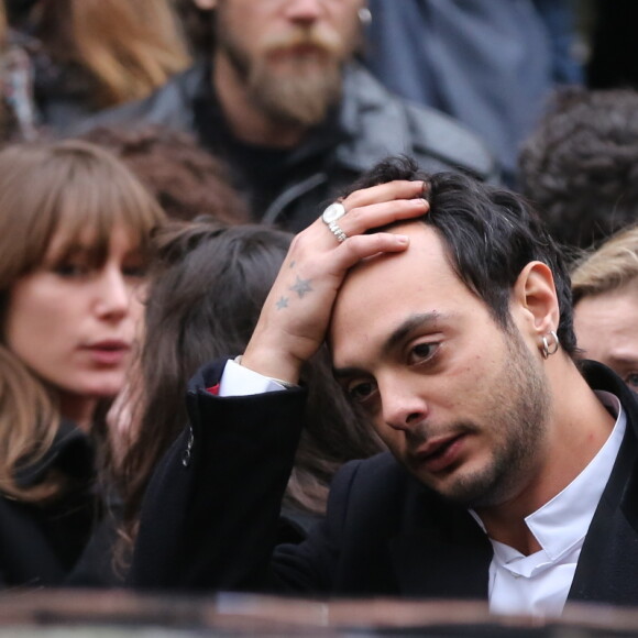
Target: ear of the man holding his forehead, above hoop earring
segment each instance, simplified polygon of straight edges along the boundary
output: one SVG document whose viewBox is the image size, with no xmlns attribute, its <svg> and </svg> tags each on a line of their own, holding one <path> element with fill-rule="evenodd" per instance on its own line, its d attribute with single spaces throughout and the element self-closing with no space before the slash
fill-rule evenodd
<svg viewBox="0 0 638 638">
<path fill-rule="evenodd" d="M 537 336 L 557 330 L 560 311 L 553 275 L 547 264 L 529 262 L 513 289 L 513 312 Z"/>
</svg>

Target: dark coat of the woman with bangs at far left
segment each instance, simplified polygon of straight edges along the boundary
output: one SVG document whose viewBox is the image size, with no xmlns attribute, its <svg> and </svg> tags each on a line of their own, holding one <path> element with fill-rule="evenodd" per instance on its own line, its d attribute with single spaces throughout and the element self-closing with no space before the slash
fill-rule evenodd
<svg viewBox="0 0 638 638">
<path fill-rule="evenodd" d="M 50 472 L 62 473 L 68 487 L 48 504 L 0 495 L 0 588 L 116 584 L 111 526 L 98 527 L 106 519 L 96 492 L 94 447 L 72 424 L 62 424 L 46 454 L 20 471 L 16 481 L 35 485 Z"/>
</svg>

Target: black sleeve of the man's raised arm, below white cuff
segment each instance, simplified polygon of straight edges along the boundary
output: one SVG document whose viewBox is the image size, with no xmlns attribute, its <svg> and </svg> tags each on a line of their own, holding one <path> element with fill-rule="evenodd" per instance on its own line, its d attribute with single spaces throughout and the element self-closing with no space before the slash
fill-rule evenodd
<svg viewBox="0 0 638 638">
<path fill-rule="evenodd" d="M 221 365 L 200 371 L 187 428 L 156 469 L 129 583 L 144 588 L 268 588 L 282 497 L 306 392 L 217 397 Z"/>
</svg>

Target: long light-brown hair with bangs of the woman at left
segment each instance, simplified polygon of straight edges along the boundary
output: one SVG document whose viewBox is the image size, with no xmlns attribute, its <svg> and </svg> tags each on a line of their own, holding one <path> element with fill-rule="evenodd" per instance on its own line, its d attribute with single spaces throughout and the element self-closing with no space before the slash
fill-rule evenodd
<svg viewBox="0 0 638 638">
<path fill-rule="evenodd" d="M 53 239 L 57 260 L 88 241 L 96 265 L 108 256 L 114 224 L 130 229 L 143 254 L 164 220 L 156 201 L 109 152 L 79 141 L 18 144 L 0 152 L 0 491 L 42 501 L 64 490 L 59 476 L 25 488 L 18 470 L 51 448 L 61 415 L 48 387 L 7 346 L 4 321 L 15 282 L 37 270 Z"/>
</svg>

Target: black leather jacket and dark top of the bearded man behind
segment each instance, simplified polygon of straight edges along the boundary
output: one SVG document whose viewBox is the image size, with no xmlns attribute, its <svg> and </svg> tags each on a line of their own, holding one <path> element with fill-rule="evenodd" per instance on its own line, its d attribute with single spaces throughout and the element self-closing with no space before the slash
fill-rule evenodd
<svg viewBox="0 0 638 638">
<path fill-rule="evenodd" d="M 265 186 L 279 186 L 261 198 L 258 206 L 252 202 L 254 216 L 294 232 L 312 222 L 345 186 L 388 155 L 411 155 L 430 172 L 452 169 L 483 180 L 497 178 L 494 158 L 476 135 L 439 111 L 393 96 L 355 65 L 345 72 L 337 112 L 310 131 L 297 148 L 265 155 L 249 174 L 252 157 L 266 150 L 253 146 L 251 152 L 243 145 L 239 155 L 233 154 L 241 143 L 228 131 L 210 74 L 209 65 L 198 64 L 151 97 L 89 120 L 82 131 L 100 124 L 153 123 L 195 133 L 205 147 L 227 161 L 240 193 L 250 193 L 267 169 Z"/>
</svg>

